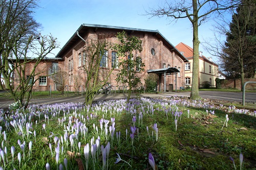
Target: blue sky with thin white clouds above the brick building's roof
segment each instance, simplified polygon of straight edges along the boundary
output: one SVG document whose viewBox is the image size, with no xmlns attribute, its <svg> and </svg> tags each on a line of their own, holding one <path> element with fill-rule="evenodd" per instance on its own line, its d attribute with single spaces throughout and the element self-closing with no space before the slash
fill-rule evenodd
<svg viewBox="0 0 256 170">
<path fill-rule="evenodd" d="M 41 0 L 35 11 L 35 19 L 43 27 L 42 34 L 52 34 L 61 48 L 82 23 L 158 30 L 170 43 L 176 46 L 183 42 L 193 47 L 193 34 L 187 18 L 170 23 L 166 17 L 145 15 L 146 10 L 156 8 L 163 0 Z M 212 36 L 212 22 L 199 28 L 199 39 Z M 54 51 L 56 55 L 60 48 Z M 211 57 L 199 47 L 203 55 Z"/>
</svg>

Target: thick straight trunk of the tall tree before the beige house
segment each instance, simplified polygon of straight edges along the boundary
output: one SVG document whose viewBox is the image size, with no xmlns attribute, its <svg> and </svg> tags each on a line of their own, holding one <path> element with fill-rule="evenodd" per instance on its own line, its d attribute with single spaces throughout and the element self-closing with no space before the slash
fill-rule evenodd
<svg viewBox="0 0 256 170">
<path fill-rule="evenodd" d="M 193 74 L 192 74 L 192 87 L 190 99 L 198 100 L 199 96 L 199 39 L 198 39 L 198 15 L 197 15 L 197 1 L 193 0 Z"/>
</svg>

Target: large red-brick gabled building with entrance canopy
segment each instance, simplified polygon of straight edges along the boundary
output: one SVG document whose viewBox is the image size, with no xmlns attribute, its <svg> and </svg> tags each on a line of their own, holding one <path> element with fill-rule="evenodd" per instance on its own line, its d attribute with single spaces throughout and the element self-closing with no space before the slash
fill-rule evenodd
<svg viewBox="0 0 256 170">
<path fill-rule="evenodd" d="M 144 84 L 144 78 L 148 72 L 155 72 L 159 75 L 158 90 L 164 91 L 167 85 L 172 84 L 173 87 L 179 89 L 184 86 L 185 82 L 185 62 L 188 60 L 173 46 L 158 30 L 142 30 L 124 27 L 113 27 L 103 25 L 87 25 L 82 24 L 76 33 L 69 41 L 61 48 L 56 58 L 46 59 L 39 64 L 38 69 L 44 69 L 44 73 L 38 75 L 39 81 L 36 82 L 34 88 L 36 90 L 49 90 L 51 85 L 52 90 L 56 89 L 51 77 L 52 71 L 62 70 L 68 72 L 69 80 L 67 86 L 70 91 L 74 91 L 74 79 L 77 75 L 80 76 L 81 85 L 84 85 L 86 75 L 81 69 L 83 65 L 82 56 L 86 43 L 83 40 L 90 39 L 106 39 L 112 44 L 118 43 L 116 37 L 118 32 L 125 31 L 128 36 L 137 36 L 142 40 L 142 52 L 135 52 L 134 57 L 139 56 L 145 64 L 145 71 L 138 71 L 137 74 Z M 83 39 L 83 40 L 82 40 Z M 112 67 L 113 56 L 116 52 L 108 50 L 102 58 L 101 70 L 108 70 Z M 29 69 L 28 69 L 29 71 Z M 118 89 L 121 84 L 117 84 L 115 78 L 119 69 L 115 68 L 110 76 L 109 82 Z"/>
</svg>

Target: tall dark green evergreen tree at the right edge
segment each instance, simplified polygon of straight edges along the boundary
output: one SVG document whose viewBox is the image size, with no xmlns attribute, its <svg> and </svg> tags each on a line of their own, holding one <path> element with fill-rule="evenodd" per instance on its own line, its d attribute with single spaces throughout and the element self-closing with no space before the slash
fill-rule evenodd
<svg viewBox="0 0 256 170">
<path fill-rule="evenodd" d="M 226 43 L 223 49 L 224 68 L 233 78 L 255 77 L 256 53 L 256 1 L 244 0 L 244 5 L 236 9 L 232 15 L 229 32 L 226 33 Z"/>
</svg>

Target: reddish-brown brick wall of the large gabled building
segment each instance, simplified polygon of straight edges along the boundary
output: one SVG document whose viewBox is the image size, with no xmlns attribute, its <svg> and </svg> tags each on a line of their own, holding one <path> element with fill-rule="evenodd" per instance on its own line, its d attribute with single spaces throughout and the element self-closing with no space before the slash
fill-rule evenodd
<svg viewBox="0 0 256 170">
<path fill-rule="evenodd" d="M 120 30 L 114 30 L 114 29 L 102 29 L 99 28 L 97 31 L 95 29 L 88 29 L 86 34 L 83 34 L 83 38 L 85 40 L 88 40 L 90 42 L 91 39 L 106 39 L 107 41 L 111 42 L 111 44 L 118 43 L 118 39 L 116 38 L 117 32 L 121 32 Z M 144 70 L 137 72 L 137 75 L 141 78 L 142 84 L 144 84 L 144 79 L 147 76 L 147 70 L 148 69 L 159 69 L 163 68 L 163 63 L 166 64 L 166 67 L 170 65 L 170 67 L 180 67 L 180 77 L 177 75 L 177 89 L 179 89 L 180 86 L 183 86 L 184 83 L 184 62 L 180 59 L 180 57 L 172 51 L 172 49 L 169 49 L 167 47 L 167 44 L 164 44 L 163 41 L 156 36 L 154 36 L 152 33 L 148 32 L 132 32 L 130 34 L 131 36 L 137 36 L 142 40 L 142 52 L 134 52 L 134 59 L 136 57 L 141 57 L 142 62 L 145 64 Z M 129 36 L 130 36 L 129 35 Z M 58 62 L 59 67 L 61 67 L 61 70 L 67 71 L 69 73 L 69 90 L 74 91 L 74 81 L 70 81 L 70 79 L 73 79 L 74 76 L 79 75 L 80 81 L 82 83 L 83 89 L 84 89 L 84 82 L 86 80 L 87 75 L 82 71 L 79 67 L 79 53 L 82 53 L 84 50 L 85 43 L 82 40 L 78 40 L 76 44 L 70 47 L 69 51 L 66 52 L 65 55 L 63 55 L 62 61 Z M 152 55 L 151 49 L 154 48 L 155 55 Z M 111 54 L 112 50 L 108 51 L 108 67 L 111 68 Z M 73 67 L 72 69 L 69 68 L 70 62 L 73 61 Z M 31 63 L 32 64 L 32 63 Z M 42 71 L 42 74 L 38 76 L 44 76 L 48 74 L 48 68 L 51 66 L 51 61 L 42 61 L 37 68 L 37 71 Z M 31 66 L 28 66 L 29 69 L 32 68 Z M 101 69 L 101 75 L 105 76 L 106 71 L 108 69 Z M 120 70 L 114 69 L 109 82 L 116 86 L 118 89 L 118 86 L 122 86 L 122 84 L 116 82 L 117 74 Z M 166 77 L 166 89 L 168 90 L 168 84 L 173 84 L 175 89 L 175 75 L 168 75 Z M 35 89 L 36 90 L 49 90 L 49 85 L 52 85 L 52 90 L 54 90 L 54 84 L 52 79 L 47 78 L 47 85 L 46 86 L 39 86 L 39 82 L 36 82 Z M 164 88 L 164 77 L 161 76 L 161 84 L 160 84 L 161 90 Z"/>
</svg>

